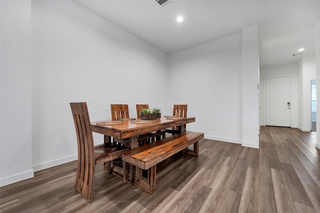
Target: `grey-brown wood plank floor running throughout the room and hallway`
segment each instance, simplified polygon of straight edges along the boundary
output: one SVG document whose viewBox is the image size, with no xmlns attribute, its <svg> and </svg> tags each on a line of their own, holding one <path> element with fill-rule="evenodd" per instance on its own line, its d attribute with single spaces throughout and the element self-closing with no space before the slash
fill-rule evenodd
<svg viewBox="0 0 320 213">
<path fill-rule="evenodd" d="M 0 188 L 1 213 L 320 213 L 315 132 L 261 127 L 260 149 L 202 139 L 199 157 L 157 166 L 152 195 L 96 166 L 93 201 L 74 190 L 76 162 Z"/>
</svg>

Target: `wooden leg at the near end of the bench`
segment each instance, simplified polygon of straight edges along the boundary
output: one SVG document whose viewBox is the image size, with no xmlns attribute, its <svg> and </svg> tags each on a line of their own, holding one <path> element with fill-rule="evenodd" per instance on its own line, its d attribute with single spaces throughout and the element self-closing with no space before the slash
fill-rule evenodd
<svg viewBox="0 0 320 213">
<path fill-rule="evenodd" d="M 135 167 L 135 180 L 134 185 L 152 194 L 155 192 L 155 174 L 156 165 L 152 166 L 147 170 L 147 178 L 142 176 L 142 169 Z"/>
</svg>

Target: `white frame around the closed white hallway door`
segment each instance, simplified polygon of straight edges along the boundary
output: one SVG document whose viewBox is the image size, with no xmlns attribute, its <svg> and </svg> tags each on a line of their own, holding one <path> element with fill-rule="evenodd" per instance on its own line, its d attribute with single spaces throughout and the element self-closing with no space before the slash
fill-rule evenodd
<svg viewBox="0 0 320 213">
<path fill-rule="evenodd" d="M 291 110 L 290 110 L 290 127 L 292 128 L 293 126 L 292 126 L 292 111 L 294 111 L 294 110 L 292 110 L 292 106 L 293 106 L 293 104 L 292 104 L 292 91 L 293 91 L 293 83 L 292 83 L 292 81 L 293 81 L 293 74 L 284 74 L 284 75 L 270 75 L 270 76 L 263 76 L 263 100 L 262 100 L 262 103 L 261 103 L 261 105 L 262 106 L 259 106 L 259 108 L 261 108 L 262 109 L 262 116 L 263 116 L 263 119 L 261 119 L 262 120 L 262 123 L 261 123 L 261 125 L 263 125 L 263 126 L 265 126 L 265 124 L 266 124 L 266 122 L 265 122 L 265 120 L 266 120 L 266 79 L 267 78 L 280 78 L 280 77 L 287 77 L 287 76 L 289 76 L 290 77 L 290 103 L 291 103 Z M 294 106 L 293 106 L 293 109 L 295 109 L 295 108 L 297 108 L 297 103 L 296 102 L 294 102 Z"/>
</svg>

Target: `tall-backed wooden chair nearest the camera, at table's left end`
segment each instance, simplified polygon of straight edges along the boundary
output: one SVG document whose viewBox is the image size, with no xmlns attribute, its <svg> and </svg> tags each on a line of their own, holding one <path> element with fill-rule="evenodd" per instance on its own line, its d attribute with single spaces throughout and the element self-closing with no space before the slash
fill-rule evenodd
<svg viewBox="0 0 320 213">
<path fill-rule="evenodd" d="M 88 201 L 92 201 L 95 165 L 121 158 L 128 150 L 114 143 L 94 146 L 89 114 L 85 102 L 70 103 L 78 147 L 75 189 Z"/>
</svg>

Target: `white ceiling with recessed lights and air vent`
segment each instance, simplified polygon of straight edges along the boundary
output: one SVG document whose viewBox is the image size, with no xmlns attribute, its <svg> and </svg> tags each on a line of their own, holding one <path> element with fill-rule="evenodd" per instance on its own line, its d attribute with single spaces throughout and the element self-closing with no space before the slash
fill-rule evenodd
<svg viewBox="0 0 320 213">
<path fill-rule="evenodd" d="M 320 0 L 74 0 L 166 53 L 258 24 L 260 67 L 315 54 Z M 184 20 L 177 22 L 182 15 Z M 292 56 L 304 48 L 302 55 Z"/>
</svg>

